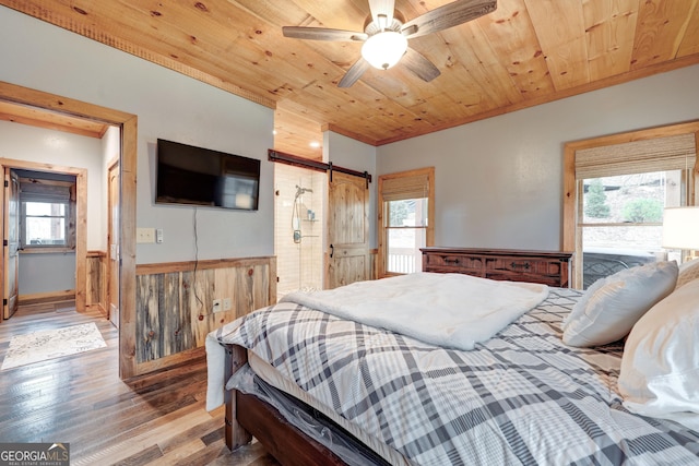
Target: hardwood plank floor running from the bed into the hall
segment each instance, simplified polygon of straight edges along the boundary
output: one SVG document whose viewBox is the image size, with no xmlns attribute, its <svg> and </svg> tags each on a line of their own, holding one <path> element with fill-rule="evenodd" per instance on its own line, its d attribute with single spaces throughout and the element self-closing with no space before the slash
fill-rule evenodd
<svg viewBox="0 0 699 466">
<path fill-rule="evenodd" d="M 67 442 L 72 466 L 279 465 L 257 442 L 228 451 L 223 408 L 204 408 L 204 358 L 121 381 L 118 331 L 96 311 L 64 302 L 20 308 L 0 323 L 0 361 L 14 335 L 87 322 L 106 348 L 0 372 L 0 442 Z"/>
</svg>

